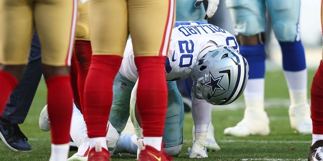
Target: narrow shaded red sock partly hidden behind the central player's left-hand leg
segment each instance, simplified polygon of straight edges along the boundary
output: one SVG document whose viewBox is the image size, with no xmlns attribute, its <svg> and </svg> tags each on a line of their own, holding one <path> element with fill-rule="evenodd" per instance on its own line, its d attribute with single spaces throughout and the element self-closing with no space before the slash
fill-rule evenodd
<svg viewBox="0 0 323 161">
<path fill-rule="evenodd" d="M 83 92 L 84 92 L 85 78 L 89 71 L 89 67 L 91 63 L 91 56 L 92 56 L 91 42 L 85 41 L 85 40 L 76 40 L 74 45 L 74 51 L 75 51 L 76 66 L 78 70 L 77 87 L 78 87 L 79 99 L 81 104 L 80 111 L 82 114 L 84 114 Z"/>
</svg>

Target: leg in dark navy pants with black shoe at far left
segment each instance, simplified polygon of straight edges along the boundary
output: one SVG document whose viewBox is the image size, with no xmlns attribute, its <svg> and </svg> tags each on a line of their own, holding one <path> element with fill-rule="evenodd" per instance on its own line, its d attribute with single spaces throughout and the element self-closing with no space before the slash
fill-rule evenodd
<svg viewBox="0 0 323 161">
<path fill-rule="evenodd" d="M 28 139 L 20 130 L 18 124 L 22 124 L 27 117 L 41 75 L 40 43 L 35 32 L 31 43 L 28 64 L 22 79 L 11 93 L 7 106 L 1 115 L 0 132 L 6 138 L 3 141 L 6 141 L 11 146 L 10 149 L 31 150 L 27 142 Z"/>
</svg>

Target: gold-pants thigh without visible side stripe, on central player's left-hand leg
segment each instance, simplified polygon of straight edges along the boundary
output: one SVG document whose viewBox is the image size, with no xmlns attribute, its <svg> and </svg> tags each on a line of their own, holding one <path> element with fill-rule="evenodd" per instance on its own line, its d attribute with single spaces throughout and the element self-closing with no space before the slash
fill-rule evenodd
<svg viewBox="0 0 323 161">
<path fill-rule="evenodd" d="M 128 39 L 126 0 L 93 0 L 88 6 L 93 55 L 120 55 Z"/>
</svg>

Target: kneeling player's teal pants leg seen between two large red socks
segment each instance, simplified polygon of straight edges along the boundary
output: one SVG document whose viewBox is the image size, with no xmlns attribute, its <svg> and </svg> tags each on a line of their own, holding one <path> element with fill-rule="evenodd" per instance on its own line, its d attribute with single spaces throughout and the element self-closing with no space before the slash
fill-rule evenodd
<svg viewBox="0 0 323 161">
<path fill-rule="evenodd" d="M 109 120 L 118 132 L 124 130 L 130 110 L 130 97 L 134 83 L 128 81 L 120 72 L 117 73 L 113 83 L 113 103 Z"/>
</svg>

